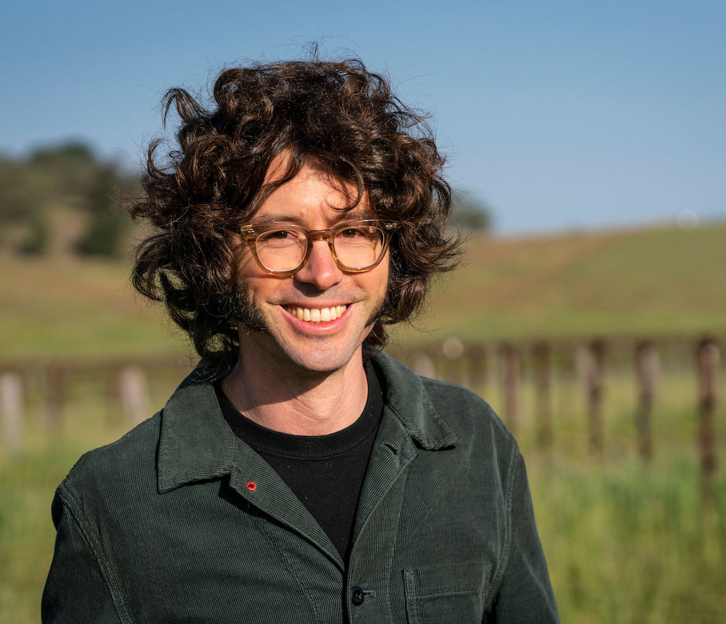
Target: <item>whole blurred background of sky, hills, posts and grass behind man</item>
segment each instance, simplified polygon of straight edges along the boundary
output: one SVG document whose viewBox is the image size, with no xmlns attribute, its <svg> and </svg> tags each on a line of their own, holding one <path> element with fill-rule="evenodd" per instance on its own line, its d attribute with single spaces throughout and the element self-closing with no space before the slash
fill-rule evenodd
<svg viewBox="0 0 726 624">
<path fill-rule="evenodd" d="M 0 621 L 54 488 L 195 363 L 129 286 L 158 104 L 359 56 L 431 113 L 465 262 L 389 351 L 515 432 L 563 622 L 726 621 L 726 5 L 12 3 L 0 24 Z M 172 139 L 175 119 L 166 137 Z M 171 147 L 171 145 L 170 145 Z"/>
</svg>

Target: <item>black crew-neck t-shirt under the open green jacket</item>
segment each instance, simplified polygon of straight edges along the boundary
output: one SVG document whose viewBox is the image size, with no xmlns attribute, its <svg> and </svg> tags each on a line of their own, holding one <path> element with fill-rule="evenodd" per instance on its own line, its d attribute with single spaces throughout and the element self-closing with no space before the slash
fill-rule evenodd
<svg viewBox="0 0 726 624">
<path fill-rule="evenodd" d="M 383 415 L 380 375 L 365 360 L 368 400 L 346 429 L 322 436 L 280 433 L 250 421 L 234 408 L 216 384 L 224 418 L 250 447 L 277 471 L 338 549 L 348 558 L 363 479 Z"/>
</svg>

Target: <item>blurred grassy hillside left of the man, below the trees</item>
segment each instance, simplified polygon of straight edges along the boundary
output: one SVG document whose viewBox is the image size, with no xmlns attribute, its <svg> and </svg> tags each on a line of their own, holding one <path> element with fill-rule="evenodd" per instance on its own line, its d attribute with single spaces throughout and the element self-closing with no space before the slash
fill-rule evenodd
<svg viewBox="0 0 726 624">
<path fill-rule="evenodd" d="M 0 355 L 163 354 L 170 338 L 158 307 L 136 296 L 129 265 L 68 256 L 0 256 Z"/>
</svg>

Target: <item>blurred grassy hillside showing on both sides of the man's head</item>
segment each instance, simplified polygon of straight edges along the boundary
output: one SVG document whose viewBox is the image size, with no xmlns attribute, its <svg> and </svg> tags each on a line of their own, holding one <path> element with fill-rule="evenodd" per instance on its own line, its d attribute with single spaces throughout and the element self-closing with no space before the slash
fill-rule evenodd
<svg viewBox="0 0 726 624">
<path fill-rule="evenodd" d="M 158 307 L 135 296 L 129 263 L 0 256 L 0 355 L 188 352 Z M 462 339 L 667 335 L 726 325 L 726 223 L 566 233 L 473 235 L 402 344 Z"/>
</svg>

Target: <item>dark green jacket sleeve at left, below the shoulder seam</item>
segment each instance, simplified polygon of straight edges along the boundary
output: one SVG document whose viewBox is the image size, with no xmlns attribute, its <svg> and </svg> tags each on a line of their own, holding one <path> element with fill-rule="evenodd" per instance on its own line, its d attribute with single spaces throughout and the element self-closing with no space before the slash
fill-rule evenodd
<svg viewBox="0 0 726 624">
<path fill-rule="evenodd" d="M 96 540 L 59 491 L 52 506 L 57 535 L 41 603 L 44 624 L 120 624 Z M 94 543 L 95 542 L 95 543 Z"/>
</svg>

